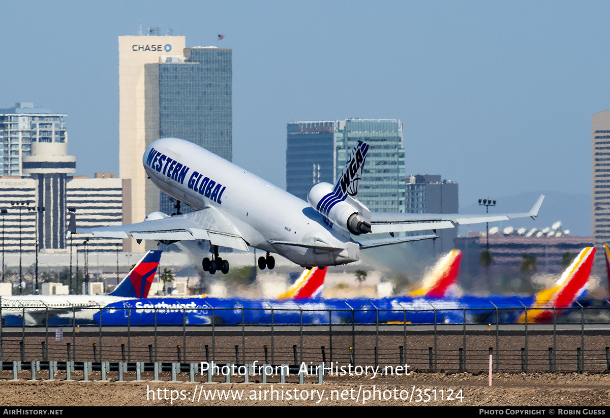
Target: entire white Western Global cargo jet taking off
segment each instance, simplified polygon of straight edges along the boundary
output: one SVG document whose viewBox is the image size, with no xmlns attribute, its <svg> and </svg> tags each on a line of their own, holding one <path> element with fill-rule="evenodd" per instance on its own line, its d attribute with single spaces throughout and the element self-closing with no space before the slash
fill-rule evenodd
<svg viewBox="0 0 610 418">
<path fill-rule="evenodd" d="M 308 202 L 265 182 L 254 174 L 188 141 L 162 138 L 143 156 L 149 179 L 164 193 L 196 211 L 187 214 L 154 212 L 144 222 L 118 227 L 79 229 L 74 218 L 70 233 L 110 238 L 156 239 L 162 243 L 204 239 L 210 241 L 210 258 L 203 269 L 229 271 L 218 247 L 267 252 L 260 269 L 273 269 L 278 253 L 300 266 L 326 267 L 358 261 L 360 251 L 390 244 L 437 238 L 436 235 L 395 237 L 395 232 L 453 228 L 455 225 L 503 221 L 537 216 L 540 196 L 529 212 L 514 214 L 409 214 L 376 213 L 357 200 L 368 144 L 358 143 L 336 185 L 318 183 Z M 386 238 L 356 239 L 361 235 L 389 233 Z"/>
</svg>

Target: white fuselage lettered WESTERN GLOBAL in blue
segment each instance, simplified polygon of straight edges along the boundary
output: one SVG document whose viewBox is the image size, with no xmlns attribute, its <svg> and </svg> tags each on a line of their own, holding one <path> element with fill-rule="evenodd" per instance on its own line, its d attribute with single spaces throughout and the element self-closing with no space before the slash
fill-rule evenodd
<svg viewBox="0 0 610 418">
<path fill-rule="evenodd" d="M 359 246 L 350 235 L 327 227 L 307 202 L 193 143 L 177 138 L 154 141 L 143 164 L 160 190 L 196 210 L 214 208 L 249 246 L 279 253 L 301 266 L 359 260 Z"/>
</svg>

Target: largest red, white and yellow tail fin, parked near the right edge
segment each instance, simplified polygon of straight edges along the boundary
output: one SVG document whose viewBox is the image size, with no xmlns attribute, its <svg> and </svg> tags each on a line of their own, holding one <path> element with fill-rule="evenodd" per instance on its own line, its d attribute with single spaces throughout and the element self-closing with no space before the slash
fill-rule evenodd
<svg viewBox="0 0 610 418">
<path fill-rule="evenodd" d="M 565 269 L 553 288 L 538 292 L 536 301 L 528 310 L 528 322 L 549 322 L 553 318 L 553 308 L 559 310 L 572 305 L 576 298 L 586 290 L 594 255 L 595 247 L 586 247 Z M 525 313 L 519 318 L 519 322 L 525 323 Z"/>
</svg>

